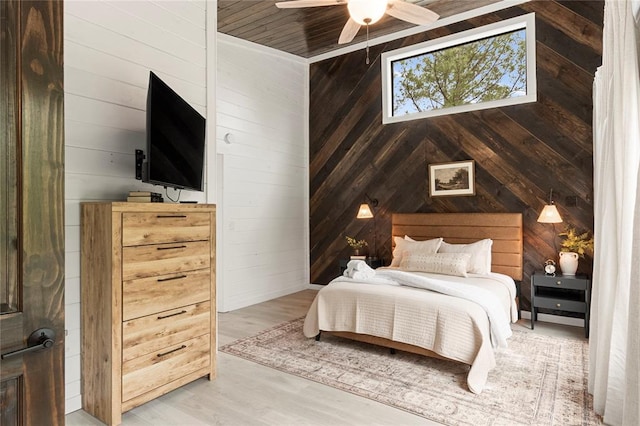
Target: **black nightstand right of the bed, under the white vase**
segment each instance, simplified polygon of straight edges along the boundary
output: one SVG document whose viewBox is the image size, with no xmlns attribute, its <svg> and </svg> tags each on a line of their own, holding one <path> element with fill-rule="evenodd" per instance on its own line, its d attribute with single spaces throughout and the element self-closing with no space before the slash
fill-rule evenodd
<svg viewBox="0 0 640 426">
<path fill-rule="evenodd" d="M 538 319 L 538 309 L 546 308 L 584 314 L 584 335 L 589 337 L 591 280 L 586 275 L 531 275 L 531 329 Z"/>
</svg>

